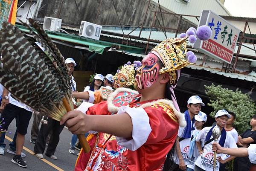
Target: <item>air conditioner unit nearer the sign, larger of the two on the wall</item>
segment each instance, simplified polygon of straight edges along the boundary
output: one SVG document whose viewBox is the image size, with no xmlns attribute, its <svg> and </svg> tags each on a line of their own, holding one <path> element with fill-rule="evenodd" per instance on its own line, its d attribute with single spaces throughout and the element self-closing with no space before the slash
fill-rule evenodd
<svg viewBox="0 0 256 171">
<path fill-rule="evenodd" d="M 81 26 L 80 26 L 78 35 L 99 40 L 101 30 L 102 30 L 102 26 L 89 23 L 87 21 L 81 21 Z"/>
</svg>

